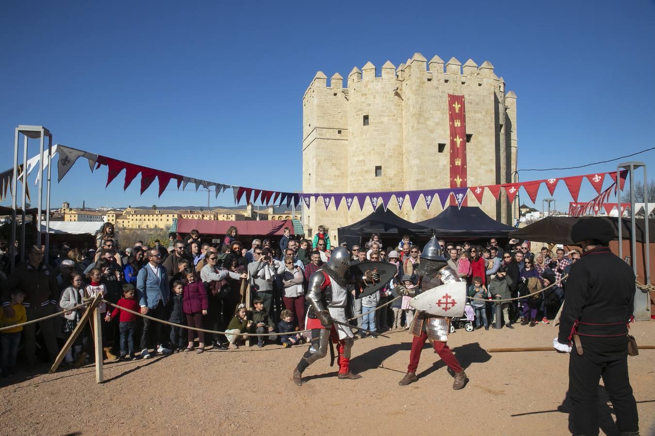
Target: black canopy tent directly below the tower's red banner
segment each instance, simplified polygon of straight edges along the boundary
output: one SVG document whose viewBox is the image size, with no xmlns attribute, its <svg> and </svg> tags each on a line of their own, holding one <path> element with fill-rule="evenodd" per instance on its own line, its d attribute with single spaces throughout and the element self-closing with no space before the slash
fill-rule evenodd
<svg viewBox="0 0 655 436">
<path fill-rule="evenodd" d="M 441 238 L 482 239 L 507 238 L 515 227 L 502 224 L 485 214 L 479 207 L 448 207 L 446 210 L 417 224 L 428 227 Z"/>
</svg>

